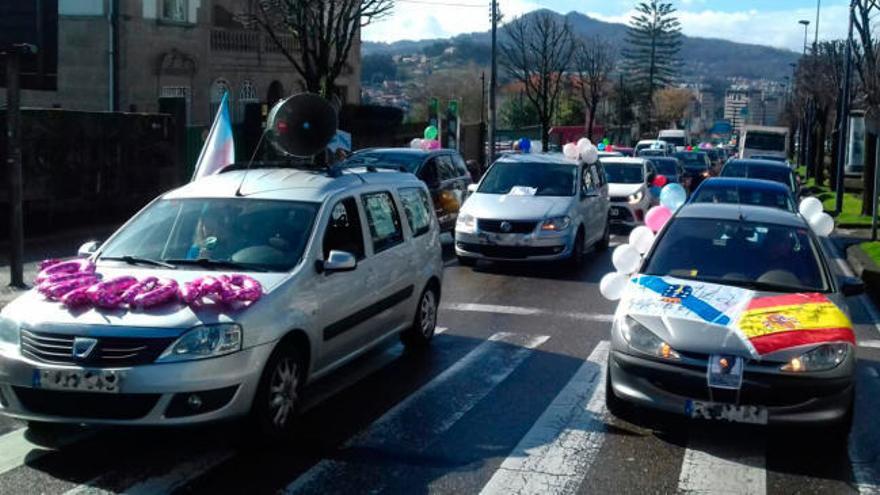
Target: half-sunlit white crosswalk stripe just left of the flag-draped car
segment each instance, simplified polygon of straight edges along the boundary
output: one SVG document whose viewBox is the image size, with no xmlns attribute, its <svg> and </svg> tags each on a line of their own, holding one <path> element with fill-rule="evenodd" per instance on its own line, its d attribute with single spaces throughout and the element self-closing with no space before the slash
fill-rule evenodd
<svg viewBox="0 0 880 495">
<path fill-rule="evenodd" d="M 605 438 L 608 341 L 599 342 L 492 476 L 482 495 L 575 493 Z"/>
</svg>

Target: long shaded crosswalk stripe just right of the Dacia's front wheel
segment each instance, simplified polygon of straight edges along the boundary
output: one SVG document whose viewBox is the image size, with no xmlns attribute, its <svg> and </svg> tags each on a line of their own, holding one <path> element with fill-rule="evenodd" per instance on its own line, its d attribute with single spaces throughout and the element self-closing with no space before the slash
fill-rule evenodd
<svg viewBox="0 0 880 495">
<path fill-rule="evenodd" d="M 337 460 L 324 459 L 290 483 L 285 493 L 333 493 L 375 483 L 375 462 L 346 460 L 354 451 L 422 451 L 451 428 L 503 382 L 546 335 L 496 333 L 433 380 L 388 410 L 367 429 L 348 440 Z M 436 415 L 436 417 L 434 417 Z M 348 451 L 348 452 L 346 452 Z M 363 484 L 361 484 L 363 483 Z M 380 490 L 377 490 L 380 491 Z"/>
</svg>

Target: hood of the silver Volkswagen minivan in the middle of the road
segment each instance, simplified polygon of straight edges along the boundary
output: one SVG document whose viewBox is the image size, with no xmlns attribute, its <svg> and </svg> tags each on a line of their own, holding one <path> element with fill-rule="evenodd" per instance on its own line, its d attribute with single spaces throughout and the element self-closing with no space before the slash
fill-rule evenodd
<svg viewBox="0 0 880 495">
<path fill-rule="evenodd" d="M 542 220 L 565 215 L 572 202 L 570 196 L 516 196 L 511 194 L 474 193 L 462 212 L 476 218 L 494 220 Z"/>
</svg>

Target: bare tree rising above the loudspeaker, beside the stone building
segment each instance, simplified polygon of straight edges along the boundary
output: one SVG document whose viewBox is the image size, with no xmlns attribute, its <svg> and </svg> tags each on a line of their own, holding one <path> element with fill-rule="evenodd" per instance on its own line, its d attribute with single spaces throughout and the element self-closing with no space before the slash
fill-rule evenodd
<svg viewBox="0 0 880 495">
<path fill-rule="evenodd" d="M 259 27 L 303 78 L 308 91 L 334 95 L 361 28 L 391 13 L 394 0 L 244 0 L 237 16 Z M 285 35 L 293 44 L 285 43 Z"/>
</svg>

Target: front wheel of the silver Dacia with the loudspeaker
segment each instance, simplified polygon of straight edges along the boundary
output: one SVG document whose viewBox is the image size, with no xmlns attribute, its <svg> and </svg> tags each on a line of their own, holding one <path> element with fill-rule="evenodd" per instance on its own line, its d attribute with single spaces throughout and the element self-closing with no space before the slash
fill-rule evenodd
<svg viewBox="0 0 880 495">
<path fill-rule="evenodd" d="M 261 440 L 286 439 L 293 431 L 302 403 L 306 360 L 290 343 L 278 345 L 269 357 L 251 406 L 251 423 Z"/>
</svg>

